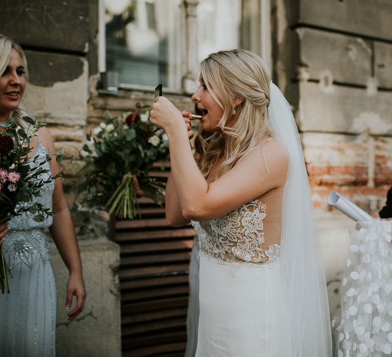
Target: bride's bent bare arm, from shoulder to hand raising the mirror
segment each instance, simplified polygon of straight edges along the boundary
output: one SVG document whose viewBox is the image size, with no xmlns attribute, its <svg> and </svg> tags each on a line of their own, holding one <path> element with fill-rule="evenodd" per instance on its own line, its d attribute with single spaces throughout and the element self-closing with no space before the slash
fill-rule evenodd
<svg viewBox="0 0 392 357">
<path fill-rule="evenodd" d="M 150 120 L 162 127 L 169 138 L 171 172 L 185 219 L 223 216 L 285 183 L 288 153 L 279 142 L 269 141 L 257 147 L 229 172 L 208 184 L 193 158 L 181 113 L 173 104 L 159 97 Z"/>
</svg>

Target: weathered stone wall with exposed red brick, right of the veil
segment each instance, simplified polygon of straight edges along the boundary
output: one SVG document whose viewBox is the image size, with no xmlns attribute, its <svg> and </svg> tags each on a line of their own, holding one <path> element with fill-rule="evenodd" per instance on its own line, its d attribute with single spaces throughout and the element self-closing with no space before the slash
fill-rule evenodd
<svg viewBox="0 0 392 357">
<path fill-rule="evenodd" d="M 392 185 L 392 2 L 273 3 L 274 80 L 301 132 L 334 315 L 354 222 L 327 196 L 380 209 Z"/>
</svg>

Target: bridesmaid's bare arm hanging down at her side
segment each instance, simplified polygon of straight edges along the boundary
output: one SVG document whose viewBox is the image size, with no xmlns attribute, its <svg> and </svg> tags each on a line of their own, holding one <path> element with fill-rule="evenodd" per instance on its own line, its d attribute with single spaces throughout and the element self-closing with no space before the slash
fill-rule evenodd
<svg viewBox="0 0 392 357">
<path fill-rule="evenodd" d="M 47 150 L 55 151 L 52 136 L 45 127 L 40 129 L 38 135 Z M 60 167 L 56 160 L 52 159 L 50 163 L 53 175 L 59 173 Z M 59 250 L 60 256 L 69 271 L 65 302 L 66 309 L 71 307 L 72 297 L 74 295 L 76 296 L 76 306 L 67 314 L 68 321 L 72 321 L 82 312 L 84 308 L 86 290 L 84 287 L 82 262 L 80 259 L 80 252 L 75 234 L 74 223 L 72 222 L 68 204 L 64 197 L 60 177 L 55 180 L 55 189 L 53 192 L 53 213 L 53 224 L 50 227 L 50 231 Z"/>
</svg>

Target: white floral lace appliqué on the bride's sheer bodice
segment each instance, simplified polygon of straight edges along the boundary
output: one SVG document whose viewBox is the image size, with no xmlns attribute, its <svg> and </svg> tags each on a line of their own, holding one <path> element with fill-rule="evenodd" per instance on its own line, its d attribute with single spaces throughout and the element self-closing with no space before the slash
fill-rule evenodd
<svg viewBox="0 0 392 357">
<path fill-rule="evenodd" d="M 203 223 L 192 221 L 199 237 L 200 253 L 236 266 L 259 267 L 279 261 L 279 244 L 269 245 L 265 251 L 263 249 L 265 217 L 266 205 L 252 200 L 226 216 Z"/>
</svg>

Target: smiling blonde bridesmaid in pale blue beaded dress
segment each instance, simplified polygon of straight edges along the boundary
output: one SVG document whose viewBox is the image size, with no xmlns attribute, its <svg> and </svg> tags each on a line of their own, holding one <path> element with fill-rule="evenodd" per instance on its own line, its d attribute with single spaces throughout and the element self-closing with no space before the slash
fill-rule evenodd
<svg viewBox="0 0 392 357">
<path fill-rule="evenodd" d="M 0 35 L 0 73 L 0 122 L 14 116 L 20 126 L 26 127 L 22 116 L 27 113 L 21 105 L 26 88 L 26 57 L 21 47 L 4 35 Z M 0 126 L 0 130 L 4 128 Z M 44 157 L 47 152 L 55 151 L 45 127 L 32 139 L 31 146 L 29 156 Z M 45 163 L 44 167 L 53 175 L 60 171 L 56 160 Z M 0 244 L 13 276 L 9 279 L 10 294 L 0 295 L 0 354 L 4 356 L 56 354 L 56 287 L 44 227 L 49 227 L 69 271 L 65 309 L 71 308 L 76 297 L 76 304 L 67 313 L 68 321 L 74 320 L 85 304 L 79 247 L 61 179 L 46 184 L 35 199 L 52 208 L 54 216 L 38 223 L 31 213 L 25 212 L 0 225 Z"/>
</svg>

